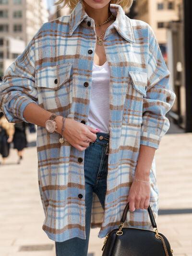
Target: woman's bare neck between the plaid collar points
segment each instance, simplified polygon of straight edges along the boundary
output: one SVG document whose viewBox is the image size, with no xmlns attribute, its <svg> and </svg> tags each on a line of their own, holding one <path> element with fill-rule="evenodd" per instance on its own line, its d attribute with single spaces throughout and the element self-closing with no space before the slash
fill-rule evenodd
<svg viewBox="0 0 192 256">
<path fill-rule="evenodd" d="M 90 18 L 94 19 L 95 24 L 103 23 L 110 17 L 112 12 L 109 10 L 109 5 L 110 3 L 101 9 L 94 9 L 84 2 L 85 12 Z"/>
</svg>

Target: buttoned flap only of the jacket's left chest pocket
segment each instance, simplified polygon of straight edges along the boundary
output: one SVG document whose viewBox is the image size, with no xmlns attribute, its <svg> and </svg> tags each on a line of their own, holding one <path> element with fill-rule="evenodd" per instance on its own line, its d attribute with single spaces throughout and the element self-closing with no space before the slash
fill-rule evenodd
<svg viewBox="0 0 192 256">
<path fill-rule="evenodd" d="M 36 86 L 59 89 L 70 78 L 72 63 L 48 66 L 36 72 Z"/>
</svg>

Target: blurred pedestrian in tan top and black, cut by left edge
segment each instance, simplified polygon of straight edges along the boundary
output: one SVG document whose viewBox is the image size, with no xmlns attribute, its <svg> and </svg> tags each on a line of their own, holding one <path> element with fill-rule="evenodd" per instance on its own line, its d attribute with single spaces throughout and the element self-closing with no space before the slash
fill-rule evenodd
<svg viewBox="0 0 192 256">
<path fill-rule="evenodd" d="M 2 164 L 5 164 L 10 153 L 10 144 L 14 134 L 14 123 L 8 122 L 2 112 L 0 112 L 0 155 Z"/>
</svg>

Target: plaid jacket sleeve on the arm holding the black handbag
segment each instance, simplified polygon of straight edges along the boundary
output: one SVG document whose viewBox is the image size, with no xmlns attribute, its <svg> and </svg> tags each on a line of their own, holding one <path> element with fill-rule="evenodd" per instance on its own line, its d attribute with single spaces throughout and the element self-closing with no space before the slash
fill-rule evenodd
<svg viewBox="0 0 192 256">
<path fill-rule="evenodd" d="M 176 95 L 169 85 L 170 72 L 162 56 L 156 36 L 149 27 L 149 54 L 147 66 L 147 90 L 143 104 L 143 122 L 140 144 L 159 147 L 170 123 L 166 113 L 172 108 Z"/>
</svg>

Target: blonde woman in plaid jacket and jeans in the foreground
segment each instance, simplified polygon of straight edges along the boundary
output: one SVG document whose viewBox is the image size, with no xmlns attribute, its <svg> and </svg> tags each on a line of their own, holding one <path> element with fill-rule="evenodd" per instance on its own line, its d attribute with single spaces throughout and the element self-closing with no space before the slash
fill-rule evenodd
<svg viewBox="0 0 192 256">
<path fill-rule="evenodd" d="M 132 0 L 59 3 L 72 13 L 43 24 L 8 68 L 0 109 L 37 124 L 42 228 L 57 256 L 85 256 L 90 227 L 105 237 L 128 201 L 125 227 L 152 229 L 154 154 L 175 94 L 151 27 L 122 9 Z"/>
</svg>

